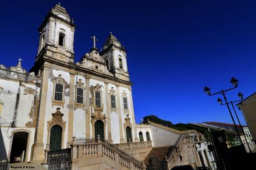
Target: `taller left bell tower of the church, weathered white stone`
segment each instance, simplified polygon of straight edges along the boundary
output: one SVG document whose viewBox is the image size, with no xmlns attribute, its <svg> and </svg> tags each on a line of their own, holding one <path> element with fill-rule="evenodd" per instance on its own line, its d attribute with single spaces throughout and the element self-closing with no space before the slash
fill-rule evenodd
<svg viewBox="0 0 256 170">
<path fill-rule="evenodd" d="M 55 61 L 74 62 L 75 25 L 60 3 L 50 10 L 39 32 L 36 61 L 41 57 L 50 57 Z"/>
</svg>

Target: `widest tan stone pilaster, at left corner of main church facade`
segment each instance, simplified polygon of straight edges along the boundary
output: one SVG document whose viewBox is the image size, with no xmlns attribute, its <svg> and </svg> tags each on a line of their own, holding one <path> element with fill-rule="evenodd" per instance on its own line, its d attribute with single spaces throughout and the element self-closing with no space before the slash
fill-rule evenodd
<svg viewBox="0 0 256 170">
<path fill-rule="evenodd" d="M 44 160 L 44 148 L 43 148 L 43 128 L 45 122 L 45 108 L 47 102 L 48 93 L 48 80 L 49 80 L 50 67 L 43 67 L 41 74 L 41 88 L 40 88 L 40 101 L 39 101 L 39 112 L 37 113 L 37 122 L 35 125 L 35 138 L 34 144 L 31 148 L 31 161 L 42 161 Z"/>
</svg>

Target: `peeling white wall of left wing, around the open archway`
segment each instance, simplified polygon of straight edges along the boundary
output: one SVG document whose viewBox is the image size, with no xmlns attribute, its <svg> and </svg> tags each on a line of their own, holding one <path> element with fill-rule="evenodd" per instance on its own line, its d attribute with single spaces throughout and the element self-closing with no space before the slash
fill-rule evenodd
<svg viewBox="0 0 256 170">
<path fill-rule="evenodd" d="M 6 156 L 11 154 L 11 142 L 14 130 L 29 130 L 30 138 L 29 150 L 27 152 L 27 160 L 30 161 L 30 151 L 34 143 L 35 128 L 32 126 L 35 122 L 35 94 L 39 95 L 40 88 L 33 83 L 26 83 L 15 80 L 0 79 L 0 99 L 2 101 L 2 112 L 0 114 L 1 138 L 3 140 Z M 19 93 L 19 95 L 17 95 Z M 18 99 L 19 98 L 19 99 Z M 15 128 L 11 127 L 11 122 L 14 121 L 14 114 L 17 114 Z M 17 145 L 17 143 L 16 143 Z M 2 151 L 4 153 L 4 151 Z"/>
</svg>

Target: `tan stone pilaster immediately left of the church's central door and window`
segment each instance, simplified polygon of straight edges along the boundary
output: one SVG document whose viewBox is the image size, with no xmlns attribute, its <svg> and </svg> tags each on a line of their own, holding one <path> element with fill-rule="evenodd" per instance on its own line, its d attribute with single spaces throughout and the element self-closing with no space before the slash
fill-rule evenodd
<svg viewBox="0 0 256 170">
<path fill-rule="evenodd" d="M 85 136 L 90 137 L 90 119 L 91 113 L 89 112 L 89 79 L 85 78 Z"/>
</svg>

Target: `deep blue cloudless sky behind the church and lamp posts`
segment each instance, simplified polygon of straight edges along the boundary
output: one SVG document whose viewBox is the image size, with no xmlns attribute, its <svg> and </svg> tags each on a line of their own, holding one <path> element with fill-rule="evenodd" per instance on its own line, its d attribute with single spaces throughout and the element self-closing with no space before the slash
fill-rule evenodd
<svg viewBox="0 0 256 170">
<path fill-rule="evenodd" d="M 76 24 L 75 60 L 100 49 L 112 32 L 127 49 L 136 122 L 155 114 L 174 124 L 232 123 L 213 92 L 232 87 L 228 100 L 255 92 L 255 1 L 0 1 L 0 64 L 33 66 L 37 28 L 61 2 Z M 245 124 L 237 109 L 240 121 Z"/>
</svg>

